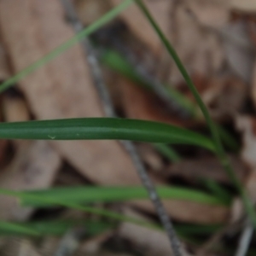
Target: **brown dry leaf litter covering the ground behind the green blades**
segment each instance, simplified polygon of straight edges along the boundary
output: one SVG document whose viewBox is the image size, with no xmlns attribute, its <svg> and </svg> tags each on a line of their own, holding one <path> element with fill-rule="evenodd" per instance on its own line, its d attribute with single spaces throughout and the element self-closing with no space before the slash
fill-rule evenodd
<svg viewBox="0 0 256 256">
<path fill-rule="evenodd" d="M 240 143 L 241 153 L 236 153 L 232 148 L 229 149 L 229 153 L 232 155 L 236 173 L 255 201 L 255 3 L 251 0 L 144 2 L 180 55 L 210 109 L 212 118 L 218 125 L 224 125 L 230 135 Z M 87 26 L 120 1 L 109 0 L 102 3 L 73 0 L 73 3 L 84 26 Z M 109 32 L 108 28 L 117 23 L 123 26 L 119 26 L 119 30 Z M 128 29 L 124 30 L 125 26 Z M 14 0 L 2 1 L 0 28 L 2 81 L 74 35 L 72 27 L 65 20 L 61 2 L 56 0 L 47 0 L 44 3 L 26 0 L 22 4 Z M 166 57 L 166 50 L 136 5 L 132 4 L 119 15 L 119 20 L 114 20 L 108 28 L 102 28 L 99 32 L 100 36 L 108 39 L 105 44 L 104 40 L 102 43 L 96 39 L 98 55 L 109 48 L 119 52 L 124 55 L 126 61 L 132 61 L 135 72 L 143 67 L 147 73 L 165 84 L 163 86 L 166 89 L 177 90 L 195 104 L 177 67 Z M 112 44 L 108 44 L 109 38 Z M 130 51 L 121 50 L 118 47 L 120 44 Z M 132 58 L 131 53 L 136 58 Z M 183 108 L 182 111 L 179 108 L 177 112 L 177 102 L 173 97 L 170 98 L 173 106 L 171 109 L 154 90 L 145 89 L 142 84 L 129 76 L 124 78 L 110 67 L 102 65 L 102 69 L 116 111 L 121 117 L 156 120 L 207 133 L 206 124 L 200 116 L 185 117 L 183 113 L 186 110 Z M 2 121 L 103 116 L 99 96 L 79 45 L 68 49 L 55 60 L 22 79 L 15 91 L 18 92 L 18 97 L 11 98 L 9 92 L 6 92 L 0 98 Z M 201 189 L 216 196 L 220 196 L 218 192 L 224 189 L 230 198 L 233 198 L 233 206 L 236 204 L 236 193 L 232 184 L 225 177 L 218 161 L 209 152 L 190 146 L 176 146 L 174 150 L 181 157 L 178 163 L 172 162 L 152 146 L 140 146 L 143 162 L 155 183 Z M 5 161 L 6 156 L 9 157 L 9 163 Z M 2 147 L 1 141 L 1 189 L 47 189 L 55 186 L 55 181 L 61 180 L 63 170 L 59 172 L 60 169 L 63 169 L 63 166 L 66 168 L 67 164 L 71 166 L 68 175 L 75 178 L 65 180 L 66 185 L 72 186 L 80 182 L 84 185 L 102 186 L 139 184 L 129 155 L 117 142 L 5 141 Z M 78 172 L 79 175 L 72 174 L 73 172 Z M 212 180 L 215 185 L 217 183 L 217 187 L 210 189 L 207 183 L 202 183 L 203 180 Z M 194 225 L 194 230 L 191 228 L 192 236 L 188 235 L 189 233 L 181 236 L 183 247 L 191 252 L 191 255 L 200 251 L 206 241 L 204 236 L 214 234 L 213 231 L 204 231 L 201 233 L 202 236 L 195 235 L 202 227 L 207 230 L 211 225 L 228 225 L 230 218 L 235 223 L 243 218 L 241 207 L 239 209 L 231 205 L 232 203 L 228 206 L 213 207 L 192 201 L 165 201 L 167 212 L 175 224 L 186 224 L 187 227 Z M 45 218 L 43 210 L 20 207 L 17 201 L 7 196 L 1 195 L 0 206 L 1 219 L 30 221 L 37 216 Z M 125 206 L 129 211 L 135 212 L 138 218 L 147 218 L 149 222 L 155 220 L 154 208 L 148 201 L 114 203 L 112 206 L 120 212 Z M 55 214 L 55 210 L 49 210 L 51 211 L 53 216 L 58 215 Z M 105 237 L 104 243 L 100 242 L 94 255 L 99 252 L 101 255 L 118 255 L 110 252 L 117 247 L 110 242 L 111 240 L 119 241 L 123 245 L 118 248 L 120 253 L 128 255 L 135 255 L 138 248 L 142 255 L 170 253 L 168 246 L 162 244 L 166 239 L 165 234 L 157 231 L 159 235 L 154 235 L 156 231 L 142 229 L 144 228 L 134 224 L 120 224 L 120 229 L 111 233 L 111 238 Z M 219 240 L 216 247 L 211 247 L 209 250 L 212 251 L 206 255 L 230 255 L 226 252 L 232 247 L 226 240 L 237 242 L 236 235 L 224 235 L 223 241 Z M 160 242 L 156 242 L 156 236 L 162 237 Z M 7 243 L 8 239 L 4 239 L 3 244 Z M 127 250 L 127 243 L 130 245 L 130 251 Z M 58 242 L 55 241 L 54 244 L 56 248 Z M 108 244 L 112 247 L 110 250 Z M 252 243 L 250 249 L 253 248 Z M 163 250 L 166 251 L 163 253 Z M 35 242 L 30 243 L 26 240 L 20 241 L 19 246 L 17 244 L 14 255 L 27 252 L 46 255 L 38 251 Z M 77 254 L 79 255 L 79 249 Z"/>
</svg>

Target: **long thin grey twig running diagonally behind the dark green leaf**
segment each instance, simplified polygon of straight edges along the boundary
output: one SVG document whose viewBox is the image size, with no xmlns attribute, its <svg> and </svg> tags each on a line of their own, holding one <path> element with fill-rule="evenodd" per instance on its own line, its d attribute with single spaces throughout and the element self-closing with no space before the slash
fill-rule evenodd
<svg viewBox="0 0 256 256">
<path fill-rule="evenodd" d="M 64 8 L 66 9 L 67 18 L 72 22 L 72 25 L 76 32 L 80 32 L 83 29 L 83 25 L 81 24 L 75 9 L 73 8 L 73 4 L 70 2 L 70 0 L 61 0 Z M 87 59 L 90 65 L 90 70 L 93 76 L 93 79 L 96 84 L 96 88 L 102 98 L 102 103 L 104 106 L 104 111 L 107 116 L 114 117 L 115 113 L 113 110 L 113 104 L 110 100 L 110 96 L 108 95 L 107 87 L 104 83 L 104 80 L 102 78 L 102 72 L 98 63 L 98 60 L 96 59 L 96 55 L 94 52 L 94 49 L 92 45 L 90 44 L 90 41 L 85 38 L 82 42 L 82 46 L 84 48 L 84 51 L 86 52 Z M 125 149 L 131 156 L 131 160 L 134 163 L 134 166 L 137 169 L 137 173 L 139 177 L 141 178 L 141 181 L 143 183 L 143 186 L 145 189 L 148 190 L 148 196 L 150 200 L 153 202 L 156 212 L 158 213 L 158 216 L 160 218 L 161 223 L 163 224 L 166 233 L 170 239 L 173 254 L 175 256 L 181 256 L 181 249 L 180 249 L 180 241 L 177 238 L 176 232 L 173 228 L 172 222 L 166 212 L 166 209 L 163 207 L 162 202 L 160 201 L 160 196 L 157 194 L 156 189 L 154 187 L 154 183 L 151 181 L 150 177 L 148 176 L 148 173 L 143 166 L 143 162 L 139 157 L 139 154 L 137 153 L 137 150 L 133 143 L 124 141 L 122 142 Z"/>
</svg>

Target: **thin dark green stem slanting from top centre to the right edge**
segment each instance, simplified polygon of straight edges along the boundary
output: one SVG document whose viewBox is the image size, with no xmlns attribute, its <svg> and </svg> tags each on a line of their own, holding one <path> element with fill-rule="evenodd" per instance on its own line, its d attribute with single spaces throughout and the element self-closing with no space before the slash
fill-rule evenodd
<svg viewBox="0 0 256 256">
<path fill-rule="evenodd" d="M 248 198 L 245 189 L 242 187 L 242 184 L 240 183 L 239 178 L 236 176 L 236 173 L 233 171 L 232 166 L 230 165 L 230 160 L 224 151 L 224 147 L 223 147 L 221 139 L 218 135 L 217 126 L 214 124 L 214 122 L 210 116 L 210 113 L 207 110 L 207 106 L 202 101 L 199 92 L 195 88 L 195 84 L 193 83 L 192 79 L 189 77 L 189 73 L 186 71 L 185 67 L 183 66 L 182 61 L 179 59 L 176 50 L 172 47 L 172 44 L 169 42 L 169 40 L 166 38 L 164 33 L 161 31 L 160 26 L 158 26 L 158 24 L 155 22 L 153 16 L 149 13 L 149 11 L 148 11 L 147 7 L 145 6 L 145 4 L 143 3 L 143 1 L 142 0 L 134 0 L 134 1 L 137 3 L 137 6 L 142 10 L 143 14 L 147 17 L 151 26 L 154 27 L 154 31 L 157 32 L 158 36 L 160 37 L 161 42 L 165 45 L 168 53 L 172 56 L 173 61 L 177 65 L 177 68 L 179 69 L 180 73 L 182 73 L 182 75 L 183 75 L 183 79 L 188 84 L 189 90 L 191 90 L 193 96 L 195 97 L 196 102 L 198 103 L 199 107 L 201 108 L 201 112 L 203 113 L 203 115 L 207 121 L 207 125 L 209 126 L 209 129 L 212 133 L 212 138 L 215 142 L 216 154 L 218 155 L 218 159 L 220 160 L 222 166 L 224 167 L 226 174 L 228 175 L 228 177 L 230 177 L 230 180 L 236 186 L 236 189 L 238 190 L 239 194 L 241 195 L 241 199 L 243 201 L 244 207 L 247 210 L 247 214 L 248 214 L 249 218 L 251 218 L 254 227 L 256 227 L 256 215 L 253 210 L 253 204 L 250 201 L 250 199 Z"/>
</svg>

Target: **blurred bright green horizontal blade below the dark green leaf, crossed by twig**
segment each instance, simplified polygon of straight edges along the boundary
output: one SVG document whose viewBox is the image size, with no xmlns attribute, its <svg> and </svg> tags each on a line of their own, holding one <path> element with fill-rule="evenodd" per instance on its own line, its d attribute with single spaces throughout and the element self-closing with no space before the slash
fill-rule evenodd
<svg viewBox="0 0 256 256">
<path fill-rule="evenodd" d="M 184 189 L 178 187 L 159 187 L 158 193 L 163 199 L 177 199 L 195 201 L 208 205 L 228 205 L 227 201 L 216 196 L 197 191 L 195 189 Z M 56 202 L 72 202 L 74 204 L 91 203 L 96 201 L 113 202 L 147 199 L 148 195 L 142 187 L 75 187 L 55 188 L 34 191 L 9 191 L 0 189 L 0 194 L 18 196 L 23 206 L 49 207 L 55 206 Z M 38 200 L 40 198 L 41 200 Z"/>
</svg>

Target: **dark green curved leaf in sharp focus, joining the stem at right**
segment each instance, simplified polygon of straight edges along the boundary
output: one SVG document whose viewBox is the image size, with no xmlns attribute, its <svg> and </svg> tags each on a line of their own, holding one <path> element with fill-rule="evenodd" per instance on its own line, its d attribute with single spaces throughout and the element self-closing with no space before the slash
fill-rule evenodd
<svg viewBox="0 0 256 256">
<path fill-rule="evenodd" d="M 212 151 L 214 143 L 193 131 L 137 119 L 55 119 L 0 124 L 0 138 L 40 140 L 131 140 L 148 143 L 183 143 Z"/>
</svg>

